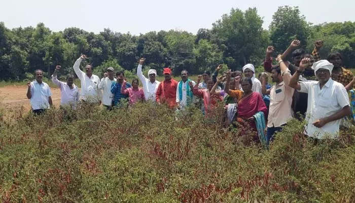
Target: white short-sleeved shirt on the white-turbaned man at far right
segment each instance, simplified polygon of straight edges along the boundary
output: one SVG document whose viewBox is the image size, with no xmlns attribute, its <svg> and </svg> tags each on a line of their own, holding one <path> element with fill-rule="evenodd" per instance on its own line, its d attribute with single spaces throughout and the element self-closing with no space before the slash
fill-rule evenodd
<svg viewBox="0 0 355 203">
<path fill-rule="evenodd" d="M 318 81 L 300 82 L 299 92 L 308 93 L 306 119 L 308 121 L 305 134 L 309 137 L 322 139 L 325 134 L 334 138 L 339 131 L 340 120 L 335 120 L 318 128 L 313 125 L 317 119 L 331 116 L 346 106 L 350 106 L 349 97 L 344 85 L 331 78 L 321 89 Z"/>
</svg>

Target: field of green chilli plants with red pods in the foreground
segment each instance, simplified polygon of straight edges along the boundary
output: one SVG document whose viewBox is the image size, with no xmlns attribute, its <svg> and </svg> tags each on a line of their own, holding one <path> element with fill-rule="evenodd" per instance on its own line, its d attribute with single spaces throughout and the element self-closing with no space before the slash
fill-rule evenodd
<svg viewBox="0 0 355 203">
<path fill-rule="evenodd" d="M 314 146 L 303 123 L 269 150 L 221 128 L 222 109 L 82 105 L 0 120 L 3 202 L 354 202 L 354 135 Z M 177 118 L 177 120 L 176 120 Z"/>
</svg>

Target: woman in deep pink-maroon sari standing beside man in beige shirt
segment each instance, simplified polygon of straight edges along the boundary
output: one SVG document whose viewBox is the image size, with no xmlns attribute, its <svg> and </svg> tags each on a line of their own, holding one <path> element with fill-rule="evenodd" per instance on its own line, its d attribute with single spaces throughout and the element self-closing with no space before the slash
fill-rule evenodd
<svg viewBox="0 0 355 203">
<path fill-rule="evenodd" d="M 251 79 L 243 78 L 240 83 L 244 94 L 238 101 L 237 121 L 241 124 L 246 123 L 250 125 L 253 131 L 257 132 L 254 115 L 258 112 L 263 112 L 264 117 L 267 118 L 267 107 L 260 93 L 252 91 L 253 82 Z M 259 138 L 256 136 L 254 140 L 259 140 Z"/>
</svg>

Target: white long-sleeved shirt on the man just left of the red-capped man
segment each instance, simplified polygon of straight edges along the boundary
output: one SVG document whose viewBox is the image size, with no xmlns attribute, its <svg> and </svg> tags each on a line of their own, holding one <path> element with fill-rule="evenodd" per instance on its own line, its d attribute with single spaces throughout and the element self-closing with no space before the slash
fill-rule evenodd
<svg viewBox="0 0 355 203">
<path fill-rule="evenodd" d="M 141 64 L 139 64 L 137 67 L 137 76 L 140 82 L 142 83 L 144 96 L 146 97 L 146 100 L 155 102 L 156 101 L 155 95 L 157 93 L 160 82 L 155 80 L 154 83 L 151 83 L 151 81 L 143 75 Z"/>
</svg>

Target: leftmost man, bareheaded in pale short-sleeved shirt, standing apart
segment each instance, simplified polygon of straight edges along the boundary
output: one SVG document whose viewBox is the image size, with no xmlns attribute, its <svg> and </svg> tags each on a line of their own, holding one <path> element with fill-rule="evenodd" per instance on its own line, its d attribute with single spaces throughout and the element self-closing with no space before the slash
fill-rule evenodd
<svg viewBox="0 0 355 203">
<path fill-rule="evenodd" d="M 30 99 L 32 112 L 39 115 L 49 109 L 52 103 L 52 92 L 48 84 L 42 81 L 43 71 L 35 70 L 35 81 L 27 82 L 27 98 Z"/>
</svg>

